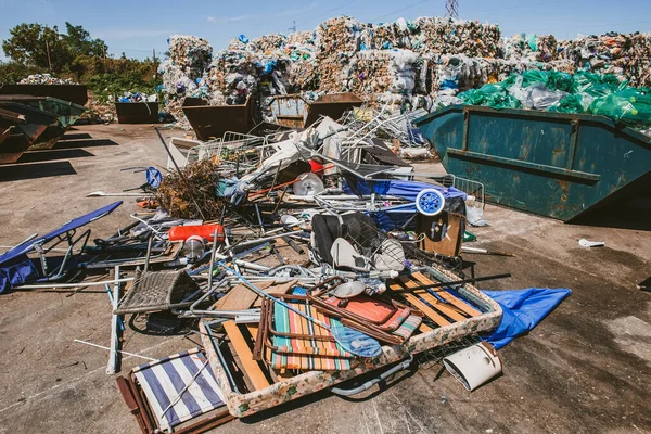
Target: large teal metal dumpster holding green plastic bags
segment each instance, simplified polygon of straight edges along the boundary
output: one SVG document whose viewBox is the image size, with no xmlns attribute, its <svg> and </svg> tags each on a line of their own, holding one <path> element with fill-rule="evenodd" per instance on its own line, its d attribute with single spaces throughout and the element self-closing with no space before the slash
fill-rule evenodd
<svg viewBox="0 0 651 434">
<path fill-rule="evenodd" d="M 651 196 L 651 138 L 603 116 L 451 105 L 414 124 L 486 200 L 564 221 Z"/>
</svg>

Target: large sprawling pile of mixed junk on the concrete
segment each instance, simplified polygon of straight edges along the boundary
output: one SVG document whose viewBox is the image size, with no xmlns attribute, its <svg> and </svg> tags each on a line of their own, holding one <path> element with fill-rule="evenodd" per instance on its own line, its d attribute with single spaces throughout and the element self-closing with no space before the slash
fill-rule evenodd
<svg viewBox="0 0 651 434">
<path fill-rule="evenodd" d="M 521 319 L 532 290 L 476 288 L 510 276 L 477 277 L 461 256 L 467 226 L 486 224 L 483 186 L 398 156 L 422 140 L 408 115 L 363 106 L 270 133 L 161 136 L 167 168 L 120 194 L 141 207 L 131 221 L 91 238 L 118 201 L 29 237 L 0 256 L 0 293 L 103 286 L 110 346 L 77 342 L 106 350 L 112 375 L 123 355 L 144 358 L 115 375 L 144 433 L 356 395 L 425 362 L 472 391 L 570 291 L 540 290 Z M 196 345 L 152 359 L 122 350 L 127 328 Z"/>
</svg>

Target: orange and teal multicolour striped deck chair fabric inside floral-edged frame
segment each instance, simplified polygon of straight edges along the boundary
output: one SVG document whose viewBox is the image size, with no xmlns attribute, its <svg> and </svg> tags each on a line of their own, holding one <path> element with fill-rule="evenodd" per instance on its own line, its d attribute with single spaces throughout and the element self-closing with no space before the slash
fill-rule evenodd
<svg viewBox="0 0 651 434">
<path fill-rule="evenodd" d="M 292 297 L 293 298 L 293 297 Z M 286 302 L 298 311 L 305 312 L 326 324 L 336 324 L 337 320 L 317 311 L 305 301 Z M 278 370 L 349 370 L 356 366 L 354 354 L 343 349 L 328 329 L 315 324 L 286 307 L 270 302 L 265 342 L 270 367 Z"/>
</svg>

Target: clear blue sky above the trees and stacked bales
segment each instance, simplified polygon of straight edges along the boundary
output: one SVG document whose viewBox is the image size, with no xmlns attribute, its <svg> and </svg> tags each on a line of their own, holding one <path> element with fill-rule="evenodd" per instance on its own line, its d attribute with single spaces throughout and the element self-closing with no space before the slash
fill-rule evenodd
<svg viewBox="0 0 651 434">
<path fill-rule="evenodd" d="M 502 36 L 516 33 L 578 34 L 651 31 L 650 0 L 459 0 L 461 18 L 497 23 Z M 66 21 L 102 38 L 115 55 L 130 58 L 163 52 L 167 36 L 196 35 L 216 50 L 240 34 L 256 37 L 299 30 L 349 15 L 362 22 L 390 22 L 403 16 L 445 15 L 445 0 L 0 0 L 0 39 L 16 24 L 41 23 L 64 28 Z M 0 50 L 1 51 L 1 50 Z M 4 59 L 0 53 L 0 59 Z"/>
</svg>

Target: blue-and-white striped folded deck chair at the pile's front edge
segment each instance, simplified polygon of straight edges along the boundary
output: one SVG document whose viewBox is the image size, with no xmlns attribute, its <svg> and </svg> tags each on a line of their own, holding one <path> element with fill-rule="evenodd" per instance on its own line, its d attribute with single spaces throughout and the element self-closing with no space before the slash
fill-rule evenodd
<svg viewBox="0 0 651 434">
<path fill-rule="evenodd" d="M 171 432 L 174 426 L 225 405 L 215 374 L 199 348 L 140 365 L 132 375 L 163 431 Z"/>
</svg>

